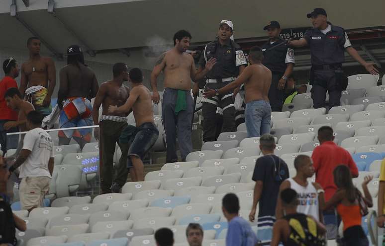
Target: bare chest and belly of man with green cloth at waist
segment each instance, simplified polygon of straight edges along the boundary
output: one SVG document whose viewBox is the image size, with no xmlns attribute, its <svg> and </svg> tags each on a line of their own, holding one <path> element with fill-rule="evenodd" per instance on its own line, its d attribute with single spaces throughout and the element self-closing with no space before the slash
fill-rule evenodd
<svg viewBox="0 0 385 246">
<path fill-rule="evenodd" d="M 163 68 L 165 74 L 164 87 L 191 90 L 193 57 L 186 53 L 178 53 L 175 50 L 168 51 L 162 56 L 164 56 L 165 60 Z"/>
</svg>

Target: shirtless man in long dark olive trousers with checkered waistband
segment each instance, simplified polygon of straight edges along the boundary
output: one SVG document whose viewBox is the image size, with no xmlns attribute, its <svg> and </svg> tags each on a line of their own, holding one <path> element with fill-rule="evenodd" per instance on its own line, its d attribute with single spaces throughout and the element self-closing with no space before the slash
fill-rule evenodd
<svg viewBox="0 0 385 246">
<path fill-rule="evenodd" d="M 109 113 L 110 105 L 122 106 L 128 99 L 130 89 L 124 85 L 124 81 L 128 81 L 128 67 L 124 63 L 116 63 L 112 68 L 113 79 L 106 81 L 100 85 L 97 91 L 92 116 L 94 123 L 99 125 L 95 128 L 95 137 L 99 139 L 99 148 L 101 149 L 101 191 L 102 193 L 118 193 L 120 187 L 127 181 L 127 153 L 128 144 L 120 143 L 119 136 L 122 130 L 127 126 L 128 113 Z M 99 122 L 99 108 L 103 108 Z M 115 153 L 115 145 L 119 145 L 122 155 L 117 166 L 117 176 L 112 183 L 113 155 Z"/>
</svg>

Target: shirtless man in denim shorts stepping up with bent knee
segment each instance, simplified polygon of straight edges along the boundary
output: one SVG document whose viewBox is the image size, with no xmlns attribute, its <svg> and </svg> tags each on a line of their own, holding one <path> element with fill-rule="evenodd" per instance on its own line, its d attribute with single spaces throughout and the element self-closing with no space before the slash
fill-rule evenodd
<svg viewBox="0 0 385 246">
<path fill-rule="evenodd" d="M 120 142 L 130 143 L 127 168 L 130 169 L 132 181 L 144 181 L 143 157 L 155 144 L 159 131 L 154 123 L 151 93 L 143 85 L 143 74 L 139 68 L 132 68 L 129 72 L 132 84 L 130 96 L 124 105 L 117 107 L 110 105 L 108 113 L 112 115 L 127 114 L 131 109 L 134 113 L 136 127 L 128 125 L 122 132 Z"/>
</svg>

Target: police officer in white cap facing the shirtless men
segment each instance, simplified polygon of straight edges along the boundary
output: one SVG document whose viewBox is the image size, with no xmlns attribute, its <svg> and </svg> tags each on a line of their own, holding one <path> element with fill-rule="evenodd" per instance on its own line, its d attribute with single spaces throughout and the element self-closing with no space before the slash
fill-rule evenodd
<svg viewBox="0 0 385 246">
<path fill-rule="evenodd" d="M 235 78 L 243 71 L 247 64 L 245 55 L 240 46 L 232 40 L 234 26 L 230 20 L 222 20 L 219 23 L 218 37 L 204 47 L 199 60 L 199 69 L 202 70 L 206 61 L 216 58 L 216 64 L 206 74 L 206 86 L 211 89 L 219 89 Z M 198 90 L 197 83 L 194 93 Z M 214 97 L 202 100 L 203 115 L 203 141 L 216 141 L 220 132 L 233 131 L 235 128 L 233 96 L 239 88 L 226 95 L 217 94 Z M 223 123 L 218 125 L 219 117 L 217 112 L 222 114 Z"/>
</svg>

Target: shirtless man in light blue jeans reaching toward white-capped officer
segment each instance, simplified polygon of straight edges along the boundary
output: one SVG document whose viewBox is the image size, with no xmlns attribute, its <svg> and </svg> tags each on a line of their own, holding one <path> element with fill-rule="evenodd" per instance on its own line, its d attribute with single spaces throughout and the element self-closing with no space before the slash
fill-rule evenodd
<svg viewBox="0 0 385 246">
<path fill-rule="evenodd" d="M 272 72 L 262 65 L 263 52 L 258 46 L 250 49 L 250 66 L 247 66 L 241 75 L 230 84 L 213 90 L 207 88 L 203 93 L 205 98 L 218 96 L 227 91 L 234 90 L 245 84 L 245 121 L 249 137 L 259 137 L 270 133 L 270 120 L 272 109 L 269 103 L 269 89 L 272 81 Z"/>
</svg>

